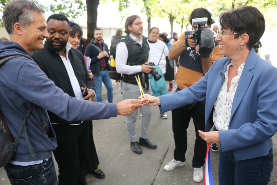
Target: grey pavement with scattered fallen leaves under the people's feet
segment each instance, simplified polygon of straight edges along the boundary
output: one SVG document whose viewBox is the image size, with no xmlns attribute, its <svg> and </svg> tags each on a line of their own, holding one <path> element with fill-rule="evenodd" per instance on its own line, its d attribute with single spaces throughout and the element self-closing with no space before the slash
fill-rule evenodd
<svg viewBox="0 0 277 185">
<path fill-rule="evenodd" d="M 176 84 L 174 84 L 176 86 Z M 118 86 L 114 86 L 114 102 L 123 100 Z M 173 90 L 174 91 L 174 90 Z M 173 92 L 172 91 L 172 92 Z M 103 88 L 103 100 L 105 88 Z M 140 112 L 139 112 L 140 114 Z M 173 171 L 164 171 L 163 166 L 173 158 L 175 148 L 172 132 L 171 112 L 167 112 L 168 119 L 162 119 L 158 107 L 153 107 L 152 121 L 149 128 L 149 140 L 157 144 L 157 149 L 142 147 L 141 155 L 135 154 L 130 148 L 130 141 L 126 132 L 126 116 L 117 116 L 107 120 L 93 121 L 93 137 L 100 161 L 98 166 L 104 171 L 103 180 L 93 175 L 86 177 L 88 184 L 97 185 L 194 185 L 192 180 L 192 157 L 194 151 L 195 131 L 191 122 L 188 132 L 188 149 L 186 164 Z M 137 119 L 139 135 L 140 118 Z M 277 136 L 274 141 L 274 163 L 277 164 Z M 211 152 L 214 183 L 218 184 L 217 165 L 219 153 Z M 58 171 L 56 165 L 56 171 Z M 270 185 L 277 184 L 277 167 L 274 166 Z M 9 184 L 3 168 L 0 169 L 0 184 Z"/>
</svg>

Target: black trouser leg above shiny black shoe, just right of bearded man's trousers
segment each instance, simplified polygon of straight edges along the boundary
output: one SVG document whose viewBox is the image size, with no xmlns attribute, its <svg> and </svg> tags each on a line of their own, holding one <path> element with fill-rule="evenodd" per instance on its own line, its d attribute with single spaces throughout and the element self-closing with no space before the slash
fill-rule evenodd
<svg viewBox="0 0 277 185">
<path fill-rule="evenodd" d="M 85 174 L 94 173 L 98 169 L 99 160 L 96 152 L 96 148 L 93 141 L 92 135 L 92 121 L 89 123 L 89 148 L 87 153 L 87 162 L 85 166 Z"/>
</svg>

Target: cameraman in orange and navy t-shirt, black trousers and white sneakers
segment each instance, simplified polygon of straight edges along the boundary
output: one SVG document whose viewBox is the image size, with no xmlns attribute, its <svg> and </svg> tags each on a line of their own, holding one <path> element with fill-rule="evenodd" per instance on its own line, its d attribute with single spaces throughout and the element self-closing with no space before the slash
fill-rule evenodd
<svg viewBox="0 0 277 185">
<path fill-rule="evenodd" d="M 196 8 L 190 14 L 190 24 L 192 25 L 193 18 L 207 17 L 208 26 L 214 23 L 211 13 L 205 8 Z M 197 25 L 192 25 L 193 30 L 197 30 Z M 190 87 L 197 82 L 212 66 L 213 62 L 221 58 L 219 53 L 218 42 L 215 42 L 215 47 L 212 46 L 213 53 L 200 56 L 198 54 L 199 45 L 193 39 L 192 32 L 184 32 L 179 39 L 172 45 L 168 58 L 173 60 L 180 56 L 179 67 L 176 74 L 176 83 L 178 85 L 176 91 Z M 213 38 L 212 38 L 213 39 Z M 187 43 L 186 43 L 187 40 Z M 188 48 L 189 47 L 189 48 Z M 191 48 L 195 48 L 197 53 Z M 202 166 L 205 162 L 205 154 L 207 143 L 199 136 L 198 130 L 204 131 L 205 128 L 205 101 L 183 106 L 172 110 L 172 127 L 175 141 L 174 158 L 164 166 L 164 170 L 170 171 L 177 166 L 185 164 L 185 153 L 187 150 L 187 132 L 190 119 L 193 119 L 196 140 L 194 145 L 194 156 L 192 159 L 193 180 L 201 182 L 203 180 Z M 214 147 L 218 151 L 217 146 Z"/>
</svg>

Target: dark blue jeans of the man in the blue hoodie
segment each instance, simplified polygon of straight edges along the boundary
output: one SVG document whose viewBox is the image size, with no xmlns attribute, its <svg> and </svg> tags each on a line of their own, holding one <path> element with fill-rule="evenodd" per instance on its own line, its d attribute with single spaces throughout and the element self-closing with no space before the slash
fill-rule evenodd
<svg viewBox="0 0 277 185">
<path fill-rule="evenodd" d="M 8 163 L 4 168 L 12 185 L 58 185 L 52 157 L 40 164 L 18 166 Z"/>
</svg>

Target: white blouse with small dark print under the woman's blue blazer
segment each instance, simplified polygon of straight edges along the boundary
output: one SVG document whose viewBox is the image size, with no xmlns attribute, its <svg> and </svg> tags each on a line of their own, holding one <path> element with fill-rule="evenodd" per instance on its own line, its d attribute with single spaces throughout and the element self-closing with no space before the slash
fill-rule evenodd
<svg viewBox="0 0 277 185">
<path fill-rule="evenodd" d="M 233 99 L 235 97 L 237 85 L 239 84 L 239 79 L 240 79 L 240 76 L 242 75 L 242 70 L 244 68 L 244 63 L 242 63 L 237 69 L 237 76 L 233 77 L 233 79 L 231 80 L 231 86 L 229 88 L 229 91 L 227 91 L 229 68 L 232 65 L 233 63 L 231 61 L 231 64 L 227 66 L 227 71 L 224 73 L 225 80 L 218 93 L 216 102 L 214 103 L 213 122 L 216 129 L 218 130 L 229 129 Z"/>
</svg>

